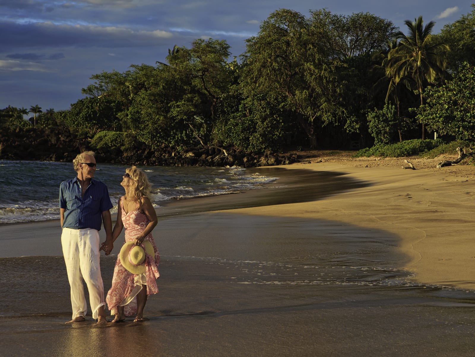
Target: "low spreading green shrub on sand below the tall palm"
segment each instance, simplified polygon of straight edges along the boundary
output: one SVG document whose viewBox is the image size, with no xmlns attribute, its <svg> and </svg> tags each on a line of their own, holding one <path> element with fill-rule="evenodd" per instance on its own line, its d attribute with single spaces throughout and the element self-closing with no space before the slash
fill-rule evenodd
<svg viewBox="0 0 475 357">
<path fill-rule="evenodd" d="M 359 150 L 354 157 L 369 157 L 369 156 L 389 156 L 389 157 L 404 157 L 417 155 L 420 153 L 426 153 L 429 150 L 434 149 L 437 146 L 443 145 L 444 142 L 441 139 L 436 140 L 406 140 L 401 143 L 390 145 L 375 145 L 370 148 Z"/>
</svg>

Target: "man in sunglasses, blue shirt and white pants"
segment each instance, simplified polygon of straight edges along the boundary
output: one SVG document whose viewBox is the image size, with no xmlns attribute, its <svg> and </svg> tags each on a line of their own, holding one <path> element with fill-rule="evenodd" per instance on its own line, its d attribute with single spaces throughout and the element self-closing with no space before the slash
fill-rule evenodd
<svg viewBox="0 0 475 357">
<path fill-rule="evenodd" d="M 73 160 L 77 176 L 66 180 L 59 187 L 61 214 L 61 244 L 66 263 L 67 278 L 71 287 L 71 322 L 85 321 L 87 303 L 83 279 L 89 290 L 92 316 L 97 323 L 106 323 L 104 284 L 99 267 L 99 233 L 104 223 L 104 245 L 112 243 L 112 220 L 109 210 L 113 207 L 107 186 L 94 179 L 94 152 L 86 151 Z"/>
</svg>

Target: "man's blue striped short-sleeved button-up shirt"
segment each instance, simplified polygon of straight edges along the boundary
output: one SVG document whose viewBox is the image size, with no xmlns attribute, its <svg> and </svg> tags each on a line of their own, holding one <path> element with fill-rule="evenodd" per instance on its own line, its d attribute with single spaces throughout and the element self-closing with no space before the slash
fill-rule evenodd
<svg viewBox="0 0 475 357">
<path fill-rule="evenodd" d="M 65 209 L 63 228 L 93 228 L 100 231 L 102 212 L 113 206 L 104 183 L 91 179 L 83 197 L 81 184 L 75 177 L 63 181 L 59 186 L 59 207 Z"/>
</svg>

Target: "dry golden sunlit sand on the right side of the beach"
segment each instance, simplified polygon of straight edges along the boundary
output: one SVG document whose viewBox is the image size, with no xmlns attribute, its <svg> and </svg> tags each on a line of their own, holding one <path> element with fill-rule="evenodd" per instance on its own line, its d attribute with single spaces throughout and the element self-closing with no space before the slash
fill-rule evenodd
<svg viewBox="0 0 475 357">
<path fill-rule="evenodd" d="M 402 169 L 408 165 L 405 159 L 416 170 Z M 389 232 L 400 238 L 395 248 L 409 257 L 402 268 L 415 273 L 412 280 L 474 290 L 475 247 L 471 232 L 475 223 L 471 216 L 475 208 L 475 167 L 437 168 L 443 159 L 447 158 L 312 158 L 307 163 L 282 167 L 338 172 L 371 184 L 324 200 L 233 212 L 318 218 Z"/>
</svg>

